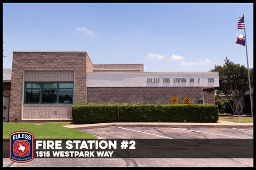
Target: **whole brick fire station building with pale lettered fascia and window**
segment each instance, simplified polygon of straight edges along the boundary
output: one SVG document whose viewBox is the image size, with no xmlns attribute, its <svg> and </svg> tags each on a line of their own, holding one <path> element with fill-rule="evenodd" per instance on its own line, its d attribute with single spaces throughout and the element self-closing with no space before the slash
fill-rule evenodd
<svg viewBox="0 0 256 170">
<path fill-rule="evenodd" d="M 143 64 L 93 64 L 87 52 L 13 51 L 3 69 L 3 121 L 72 120 L 83 104 L 215 104 L 218 72 L 144 72 Z"/>
</svg>

